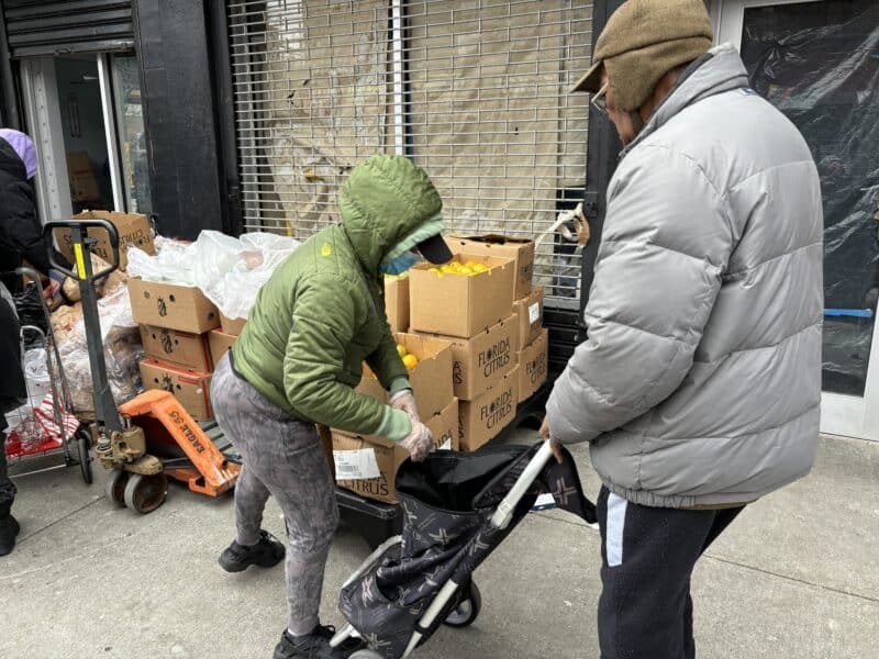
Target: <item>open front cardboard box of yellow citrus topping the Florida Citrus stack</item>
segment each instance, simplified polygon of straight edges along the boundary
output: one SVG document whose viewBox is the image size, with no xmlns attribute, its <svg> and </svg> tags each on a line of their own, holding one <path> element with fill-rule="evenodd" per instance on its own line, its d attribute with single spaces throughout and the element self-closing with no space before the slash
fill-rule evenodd
<svg viewBox="0 0 879 659">
<path fill-rule="evenodd" d="M 469 338 L 510 315 L 514 264 L 509 258 L 460 253 L 455 260 L 478 260 L 489 270 L 472 276 L 431 272 L 430 264 L 409 271 L 410 324 L 418 332 Z"/>
</svg>

